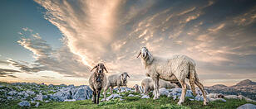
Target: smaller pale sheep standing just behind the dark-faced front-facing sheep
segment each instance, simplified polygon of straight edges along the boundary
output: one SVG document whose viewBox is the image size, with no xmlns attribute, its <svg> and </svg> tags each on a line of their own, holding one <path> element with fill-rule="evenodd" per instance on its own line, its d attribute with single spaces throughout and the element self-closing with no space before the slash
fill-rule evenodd
<svg viewBox="0 0 256 109">
<path fill-rule="evenodd" d="M 126 86 L 127 88 L 127 77 L 130 78 L 129 74 L 124 72 L 121 74 L 112 74 L 107 78 L 106 87 L 104 88 L 104 98 L 106 98 L 106 90 L 110 88 L 111 94 L 113 93 L 113 88 L 117 86 L 118 91 L 121 91 L 121 86 Z"/>
</svg>

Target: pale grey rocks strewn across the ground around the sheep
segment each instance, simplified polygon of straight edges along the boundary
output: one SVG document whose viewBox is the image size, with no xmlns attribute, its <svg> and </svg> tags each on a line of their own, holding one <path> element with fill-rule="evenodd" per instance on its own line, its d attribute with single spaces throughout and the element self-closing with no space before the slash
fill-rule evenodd
<svg viewBox="0 0 256 109">
<path fill-rule="evenodd" d="M 181 88 L 172 88 L 172 89 L 165 89 L 160 88 L 160 95 L 161 100 L 171 100 L 169 102 L 174 102 L 174 106 L 170 105 L 168 107 L 180 107 L 176 106 L 176 102 L 179 100 L 181 95 Z M 199 91 L 198 88 L 196 88 L 197 96 L 194 97 L 192 95 L 191 90 L 188 90 L 186 92 L 186 101 L 191 102 L 199 102 L 203 103 L 202 101 L 203 96 L 202 93 Z M 121 92 L 117 92 L 117 88 L 114 89 L 114 94 L 111 94 L 110 92 L 107 92 L 106 99 L 102 98 L 103 95 L 101 94 L 101 103 L 99 106 L 106 107 L 111 106 L 110 104 L 113 104 L 113 102 L 131 102 L 131 100 L 138 100 L 139 103 L 140 100 L 143 101 L 148 100 L 152 101 L 152 95 L 153 92 L 150 92 L 149 95 L 144 95 L 140 93 L 134 92 L 131 88 L 121 88 Z M 46 85 L 44 83 L 37 84 L 37 83 L 0 83 L 0 102 L 1 102 L 1 108 L 19 108 L 19 107 L 39 107 L 39 108 L 46 108 L 46 107 L 52 107 L 52 104 L 55 105 L 61 105 L 57 102 L 78 102 L 81 100 L 90 101 L 90 107 L 94 107 L 91 100 L 87 100 L 91 98 L 91 88 L 89 88 L 86 85 L 81 86 L 74 86 L 74 85 Z M 208 94 L 208 100 L 211 102 L 227 102 L 227 98 L 221 98 L 218 97 L 219 93 L 210 93 Z M 163 98 L 162 98 L 163 97 Z M 233 97 L 232 97 L 233 98 Z M 244 101 L 244 97 L 237 97 L 234 95 L 235 99 L 242 100 L 243 102 L 240 103 L 249 103 L 247 101 Z M 166 102 L 165 100 L 165 102 Z M 232 101 L 232 100 L 231 100 Z M 112 102 L 112 103 L 111 103 Z M 152 101 L 154 102 L 154 101 Z M 164 100 L 163 100 L 164 102 Z M 230 102 L 228 100 L 228 102 Z M 125 104 L 126 104 L 125 103 Z M 50 104 L 50 106 L 48 106 Z M 64 103 L 64 105 L 70 104 L 70 103 Z M 124 105 L 125 105 L 124 104 Z M 135 105 L 136 103 L 134 103 Z M 106 106 L 105 106 L 106 105 Z M 134 106 L 132 105 L 132 106 Z M 163 104 L 160 104 L 163 105 Z M 157 106 L 157 105 L 156 105 Z M 202 105 L 201 105 L 202 106 Z M 50 107 L 50 108 L 51 108 Z M 83 106 L 85 107 L 85 106 Z M 113 106 L 114 107 L 114 106 Z M 119 107 L 119 106 L 116 106 Z M 134 106 L 136 107 L 136 106 Z M 151 106 L 152 108 L 155 108 L 155 105 Z M 164 106 L 165 107 L 165 106 Z M 188 106 L 192 107 L 192 106 Z M 194 107 L 194 106 L 193 106 Z M 193 108 L 192 107 L 192 108 Z M 230 106 L 231 107 L 231 106 Z M 234 107 L 234 106 L 233 106 Z M 61 107 L 60 107 L 61 108 Z M 68 107 L 66 107 L 68 108 Z M 182 107 L 180 107 L 182 108 Z"/>
</svg>

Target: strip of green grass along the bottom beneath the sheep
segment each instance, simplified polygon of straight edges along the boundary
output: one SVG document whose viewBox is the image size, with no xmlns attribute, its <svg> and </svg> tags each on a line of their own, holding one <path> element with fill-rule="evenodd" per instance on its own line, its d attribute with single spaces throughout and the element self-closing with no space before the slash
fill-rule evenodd
<svg viewBox="0 0 256 109">
<path fill-rule="evenodd" d="M 140 99 L 140 97 L 123 97 L 124 101 L 120 101 L 119 99 L 111 100 L 109 102 L 100 102 L 99 105 L 93 104 L 91 100 L 83 100 L 76 102 L 40 102 L 40 106 L 37 108 L 42 109 L 91 109 L 91 108 L 139 108 L 139 109 L 234 109 L 245 103 L 255 102 L 245 102 L 245 100 L 235 100 L 228 99 L 227 102 L 209 102 L 208 106 L 204 106 L 203 102 L 190 101 L 186 98 L 186 101 L 182 104 L 182 106 L 178 106 L 178 100 L 172 100 L 168 97 L 160 97 L 158 100 L 150 99 Z M 17 105 L 17 102 L 9 102 L 6 105 L 0 105 L 0 108 L 20 108 Z M 32 104 L 32 107 L 35 108 Z"/>
</svg>

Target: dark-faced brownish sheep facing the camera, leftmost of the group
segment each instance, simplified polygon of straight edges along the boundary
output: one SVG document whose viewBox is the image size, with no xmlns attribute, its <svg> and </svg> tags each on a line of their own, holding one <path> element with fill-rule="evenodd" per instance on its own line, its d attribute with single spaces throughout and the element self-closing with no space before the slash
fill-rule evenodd
<svg viewBox="0 0 256 109">
<path fill-rule="evenodd" d="M 99 63 L 93 69 L 96 69 L 96 71 L 91 73 L 89 78 L 89 84 L 93 91 L 91 100 L 94 103 L 99 104 L 101 89 L 106 87 L 106 75 L 104 73 L 104 69 L 106 70 L 106 67 L 104 64 Z M 91 71 L 93 69 L 91 69 Z M 108 73 L 107 70 L 106 73 Z"/>
</svg>

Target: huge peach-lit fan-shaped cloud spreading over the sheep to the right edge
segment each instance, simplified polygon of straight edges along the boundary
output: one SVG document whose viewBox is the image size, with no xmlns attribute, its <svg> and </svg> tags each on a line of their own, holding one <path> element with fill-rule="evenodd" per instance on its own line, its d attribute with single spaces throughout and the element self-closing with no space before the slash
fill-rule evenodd
<svg viewBox="0 0 256 109">
<path fill-rule="evenodd" d="M 256 39 L 250 26 L 255 25 L 256 13 L 249 5 L 255 2 L 36 2 L 62 31 L 71 53 L 90 67 L 103 61 L 111 73 L 126 71 L 144 78 L 135 55 L 146 46 L 153 55 L 189 55 L 203 79 L 252 78 L 239 73 L 255 73 Z M 239 4 L 244 4 L 243 10 L 236 7 Z M 236 13 L 223 11 L 228 7 Z"/>
</svg>

